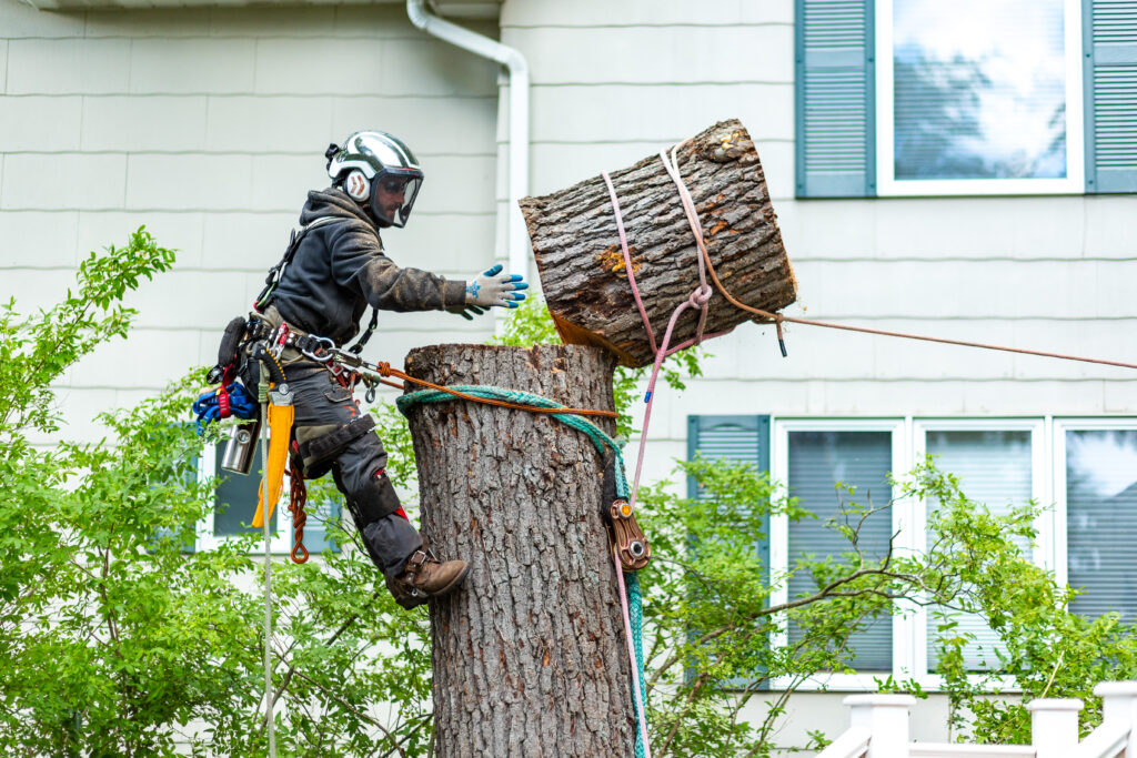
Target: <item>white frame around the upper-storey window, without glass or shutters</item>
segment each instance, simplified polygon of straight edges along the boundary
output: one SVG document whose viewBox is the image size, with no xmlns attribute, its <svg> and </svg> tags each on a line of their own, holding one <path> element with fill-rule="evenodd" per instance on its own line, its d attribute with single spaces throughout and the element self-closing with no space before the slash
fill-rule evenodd
<svg viewBox="0 0 1137 758">
<path fill-rule="evenodd" d="M 875 0 L 872 14 L 875 52 L 877 197 L 958 197 L 1086 193 L 1086 102 L 1084 97 L 1082 0 L 1063 0 L 1065 50 L 1065 178 L 896 180 L 893 70 L 893 5 Z M 1088 1 L 1088 0 L 1087 0 Z"/>
</svg>

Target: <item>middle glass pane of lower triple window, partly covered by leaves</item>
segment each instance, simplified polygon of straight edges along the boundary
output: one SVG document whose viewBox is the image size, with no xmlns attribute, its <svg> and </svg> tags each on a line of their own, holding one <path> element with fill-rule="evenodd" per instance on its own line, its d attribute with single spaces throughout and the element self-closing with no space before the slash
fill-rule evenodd
<svg viewBox="0 0 1137 758">
<path fill-rule="evenodd" d="M 1031 435 L 1028 430 L 1003 432 L 939 431 L 928 432 L 928 452 L 936 456 L 938 468 L 960 477 L 960 488 L 970 499 L 981 502 L 996 515 L 1010 513 L 1012 506 L 1026 505 L 1031 497 Z M 928 509 L 937 507 L 928 502 Z M 1030 544 L 1021 541 L 1023 553 L 1029 556 Z M 928 668 L 939 665 L 936 639 L 938 626 L 946 618 L 956 626 L 951 634 L 970 633 L 973 642 L 963 649 L 968 670 L 993 668 L 998 659 L 997 635 L 987 626 L 981 616 L 929 608 L 928 614 Z"/>
</svg>

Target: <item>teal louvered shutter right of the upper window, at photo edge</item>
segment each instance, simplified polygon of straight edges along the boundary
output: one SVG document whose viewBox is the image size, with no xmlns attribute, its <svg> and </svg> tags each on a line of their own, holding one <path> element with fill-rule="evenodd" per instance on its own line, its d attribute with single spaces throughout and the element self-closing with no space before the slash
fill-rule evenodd
<svg viewBox="0 0 1137 758">
<path fill-rule="evenodd" d="M 1086 191 L 1137 192 L 1137 0 L 1084 0 Z"/>
</svg>

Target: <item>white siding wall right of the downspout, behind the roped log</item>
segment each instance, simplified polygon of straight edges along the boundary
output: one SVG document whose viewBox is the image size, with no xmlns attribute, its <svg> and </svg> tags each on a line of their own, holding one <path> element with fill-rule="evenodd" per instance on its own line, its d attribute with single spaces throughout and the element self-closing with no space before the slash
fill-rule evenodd
<svg viewBox="0 0 1137 758">
<path fill-rule="evenodd" d="M 506 0 L 501 40 L 532 69 L 532 190 L 623 168 L 738 117 L 762 158 L 807 318 L 1132 361 L 1134 197 L 796 200 L 794 2 Z M 678 200 L 677 200 L 678 202 Z M 787 325 L 708 343 L 705 378 L 657 393 L 647 480 L 686 456 L 694 414 L 1131 415 L 1132 372 Z M 634 459 L 634 447 L 629 458 Z M 677 482 L 677 485 L 680 484 Z M 845 723 L 795 697 L 779 742 Z M 762 706 L 748 711 L 761 718 Z M 946 702 L 913 736 L 946 739 Z"/>
</svg>

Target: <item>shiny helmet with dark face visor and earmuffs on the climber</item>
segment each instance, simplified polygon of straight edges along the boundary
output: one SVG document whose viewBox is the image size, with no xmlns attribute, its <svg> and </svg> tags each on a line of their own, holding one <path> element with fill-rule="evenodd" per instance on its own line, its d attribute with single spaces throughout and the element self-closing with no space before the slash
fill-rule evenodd
<svg viewBox="0 0 1137 758">
<path fill-rule="evenodd" d="M 385 132 L 356 132 L 342 147 L 327 145 L 324 157 L 333 183 L 367 208 L 380 226 L 406 226 L 423 170 L 402 140 Z"/>
</svg>

